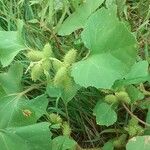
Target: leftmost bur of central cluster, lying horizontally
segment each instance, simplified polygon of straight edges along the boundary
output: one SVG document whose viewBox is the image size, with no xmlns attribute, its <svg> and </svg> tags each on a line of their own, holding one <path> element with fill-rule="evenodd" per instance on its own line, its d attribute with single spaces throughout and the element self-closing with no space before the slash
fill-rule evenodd
<svg viewBox="0 0 150 150">
<path fill-rule="evenodd" d="M 40 61 L 42 58 L 43 58 L 43 53 L 41 51 L 35 51 L 35 50 L 32 50 L 32 51 L 29 51 L 27 53 L 27 57 L 30 61 Z"/>
</svg>

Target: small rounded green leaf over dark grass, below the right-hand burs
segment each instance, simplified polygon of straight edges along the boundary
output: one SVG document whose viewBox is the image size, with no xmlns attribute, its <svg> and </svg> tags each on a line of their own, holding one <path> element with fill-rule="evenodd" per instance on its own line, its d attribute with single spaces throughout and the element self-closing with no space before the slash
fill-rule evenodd
<svg viewBox="0 0 150 150">
<path fill-rule="evenodd" d="M 117 121 L 117 114 L 107 103 L 97 103 L 94 108 L 96 122 L 99 125 L 110 126 Z"/>
</svg>

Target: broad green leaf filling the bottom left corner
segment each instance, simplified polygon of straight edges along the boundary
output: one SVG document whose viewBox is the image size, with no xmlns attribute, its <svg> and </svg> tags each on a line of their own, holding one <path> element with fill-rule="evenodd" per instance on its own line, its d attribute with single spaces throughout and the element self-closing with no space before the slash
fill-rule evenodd
<svg viewBox="0 0 150 150">
<path fill-rule="evenodd" d="M 0 129 L 1 150 L 49 150 L 51 133 L 48 123 Z"/>
</svg>

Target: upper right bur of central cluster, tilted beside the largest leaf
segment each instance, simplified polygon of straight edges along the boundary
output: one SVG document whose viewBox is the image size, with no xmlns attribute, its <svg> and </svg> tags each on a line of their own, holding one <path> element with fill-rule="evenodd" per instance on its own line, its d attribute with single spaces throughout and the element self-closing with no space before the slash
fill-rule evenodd
<svg viewBox="0 0 150 150">
<path fill-rule="evenodd" d="M 72 65 L 76 61 L 77 51 L 75 49 L 71 49 L 64 56 L 64 63 Z"/>
</svg>

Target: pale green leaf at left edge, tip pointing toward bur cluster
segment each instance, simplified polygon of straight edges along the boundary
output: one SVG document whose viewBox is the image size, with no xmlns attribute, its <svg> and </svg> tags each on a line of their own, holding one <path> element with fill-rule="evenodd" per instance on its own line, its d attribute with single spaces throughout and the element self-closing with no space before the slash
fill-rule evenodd
<svg viewBox="0 0 150 150">
<path fill-rule="evenodd" d="M 8 66 L 14 57 L 27 47 L 17 31 L 0 31 L 0 62 Z"/>
</svg>

